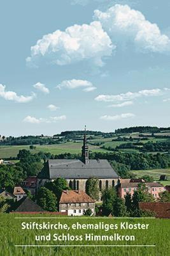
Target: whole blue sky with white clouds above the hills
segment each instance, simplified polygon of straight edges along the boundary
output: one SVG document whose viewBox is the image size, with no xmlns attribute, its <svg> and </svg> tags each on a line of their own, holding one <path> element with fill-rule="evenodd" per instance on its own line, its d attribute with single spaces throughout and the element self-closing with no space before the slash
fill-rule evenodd
<svg viewBox="0 0 170 256">
<path fill-rule="evenodd" d="M 0 3 L 0 134 L 169 126 L 170 3 Z"/>
</svg>

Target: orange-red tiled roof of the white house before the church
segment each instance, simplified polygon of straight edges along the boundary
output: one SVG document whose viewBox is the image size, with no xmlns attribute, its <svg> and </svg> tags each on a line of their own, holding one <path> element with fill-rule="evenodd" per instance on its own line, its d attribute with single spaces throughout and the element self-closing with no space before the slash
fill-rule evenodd
<svg viewBox="0 0 170 256">
<path fill-rule="evenodd" d="M 64 190 L 60 197 L 60 204 L 66 203 L 94 203 L 95 200 L 81 190 Z"/>
</svg>

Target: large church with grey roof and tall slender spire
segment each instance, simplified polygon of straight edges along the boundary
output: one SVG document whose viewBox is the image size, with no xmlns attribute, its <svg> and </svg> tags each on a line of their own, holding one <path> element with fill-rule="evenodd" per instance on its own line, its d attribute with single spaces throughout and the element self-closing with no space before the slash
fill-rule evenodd
<svg viewBox="0 0 170 256">
<path fill-rule="evenodd" d="M 38 174 L 38 188 L 44 186 L 45 182 L 54 181 L 59 177 L 67 180 L 69 188 L 82 191 L 85 191 L 86 182 L 90 177 L 99 179 L 100 191 L 117 186 L 119 179 L 108 160 L 89 159 L 86 129 L 81 148 L 81 160 L 49 159 Z"/>
</svg>

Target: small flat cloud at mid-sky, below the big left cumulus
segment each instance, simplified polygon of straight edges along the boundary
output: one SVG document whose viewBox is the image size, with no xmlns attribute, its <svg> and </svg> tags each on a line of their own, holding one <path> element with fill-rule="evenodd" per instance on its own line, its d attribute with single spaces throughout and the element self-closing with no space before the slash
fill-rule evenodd
<svg viewBox="0 0 170 256">
<path fill-rule="evenodd" d="M 62 83 L 58 84 L 56 88 L 62 89 L 62 88 L 67 88 L 67 89 L 76 89 L 76 88 L 82 88 L 85 87 L 83 91 L 85 92 L 91 92 L 96 89 L 94 85 L 87 81 L 87 80 L 80 80 L 80 79 L 72 79 L 72 80 L 64 80 Z"/>
</svg>

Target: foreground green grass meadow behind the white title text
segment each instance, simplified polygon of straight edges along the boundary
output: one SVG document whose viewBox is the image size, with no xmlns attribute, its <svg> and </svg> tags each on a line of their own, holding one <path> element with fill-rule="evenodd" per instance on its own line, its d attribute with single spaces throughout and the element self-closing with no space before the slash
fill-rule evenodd
<svg viewBox="0 0 170 256">
<path fill-rule="evenodd" d="M 15 219 L 15 217 L 26 217 L 26 219 Z M 31 217 L 33 219 L 31 219 Z M 38 219 L 41 217 L 41 219 Z M 45 218 L 44 218 L 45 217 Z M 49 217 L 52 217 L 49 219 Z M 43 219 L 42 219 L 43 218 Z M 169 255 L 169 232 L 170 232 L 170 220 L 160 219 L 120 219 L 120 218 L 67 218 L 66 216 L 59 217 L 50 214 L 41 215 L 29 215 L 29 214 L 0 214 L 1 221 L 1 236 L 0 236 L 0 255 L 2 256 L 167 256 Z M 52 223 L 66 224 L 69 230 L 22 230 L 21 223 L 30 223 L 35 221 L 36 223 L 46 223 L 50 221 Z M 99 229 L 73 229 L 72 225 L 76 223 L 82 224 L 99 224 L 103 222 L 104 225 L 118 225 L 118 229 L 104 230 Z M 148 230 L 143 229 L 120 229 L 120 223 L 127 222 L 131 225 L 137 223 L 149 224 Z M 49 241 L 36 241 L 36 235 L 51 235 Z M 82 236 L 80 241 L 53 241 L 53 234 L 59 234 L 64 236 Z M 114 236 L 118 234 L 120 236 L 134 236 L 134 241 L 87 241 L 85 240 L 85 234 L 94 234 L 95 236 Z M 43 245 L 44 247 L 32 246 L 32 247 L 15 247 L 15 245 Z M 45 247 L 45 246 L 53 247 Z M 59 245 L 64 245 L 60 247 Z M 75 246 L 77 245 L 77 246 Z M 92 246 L 93 245 L 93 246 Z M 115 247 L 111 247 L 115 246 Z M 123 246 L 125 247 L 123 247 Z M 138 246 L 139 245 L 139 246 Z M 147 246 L 146 246 L 147 245 Z M 148 246 L 150 245 L 150 247 Z M 66 247 L 67 246 L 67 247 Z M 87 247 L 86 247 L 87 246 Z M 89 247 L 92 246 L 92 247 Z M 131 247 L 130 247 L 131 246 Z"/>
</svg>

